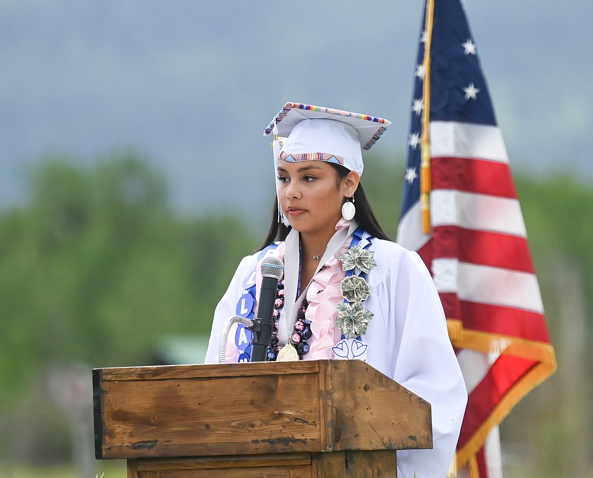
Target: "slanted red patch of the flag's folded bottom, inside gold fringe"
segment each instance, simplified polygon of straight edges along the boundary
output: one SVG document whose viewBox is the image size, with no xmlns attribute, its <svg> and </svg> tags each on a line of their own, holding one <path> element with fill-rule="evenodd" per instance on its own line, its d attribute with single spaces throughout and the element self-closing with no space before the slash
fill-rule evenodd
<svg viewBox="0 0 593 478">
<path fill-rule="evenodd" d="M 511 387 L 535 365 L 537 362 L 511 355 L 501 355 L 496 359 L 468 397 L 457 448 L 467 443 Z"/>
</svg>

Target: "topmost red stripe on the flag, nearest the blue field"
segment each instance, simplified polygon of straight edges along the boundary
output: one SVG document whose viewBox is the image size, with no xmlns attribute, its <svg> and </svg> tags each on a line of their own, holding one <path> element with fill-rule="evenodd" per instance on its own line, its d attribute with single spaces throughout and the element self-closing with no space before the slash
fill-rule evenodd
<svg viewBox="0 0 593 478">
<path fill-rule="evenodd" d="M 506 162 L 468 158 L 431 158 L 432 189 L 517 198 Z"/>
</svg>

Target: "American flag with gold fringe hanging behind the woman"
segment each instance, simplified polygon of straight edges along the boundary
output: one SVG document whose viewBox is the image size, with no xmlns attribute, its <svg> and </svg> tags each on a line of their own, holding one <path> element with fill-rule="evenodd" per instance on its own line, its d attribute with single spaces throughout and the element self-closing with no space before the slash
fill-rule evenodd
<svg viewBox="0 0 593 478">
<path fill-rule="evenodd" d="M 459 474 L 496 478 L 502 476 L 498 424 L 554 371 L 556 359 L 463 0 L 426 4 L 398 243 L 418 251 L 431 270 L 466 380 Z M 430 168 L 421 173 L 423 144 Z M 423 175 L 423 191 L 430 189 L 425 231 Z"/>
</svg>

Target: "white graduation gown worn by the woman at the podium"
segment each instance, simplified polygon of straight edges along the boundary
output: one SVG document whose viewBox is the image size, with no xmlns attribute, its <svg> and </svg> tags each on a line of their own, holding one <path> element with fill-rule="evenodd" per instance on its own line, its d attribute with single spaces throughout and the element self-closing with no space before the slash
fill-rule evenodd
<svg viewBox="0 0 593 478">
<path fill-rule="evenodd" d="M 349 241 L 355 229 L 353 223 L 336 232 L 321 258 L 319 269 L 345 240 Z M 360 246 L 367 244 L 363 238 Z M 288 337 L 285 332 L 291 322 L 294 324 L 296 311 L 307 292 L 305 288 L 301 297 L 294 299 L 298 285 L 298 250 L 298 233 L 293 230 L 285 244 L 286 297 L 280 317 L 280 342 L 286 342 L 281 338 Z M 368 344 L 366 362 L 429 401 L 432 407 L 433 448 L 398 451 L 398 476 L 413 478 L 416 472 L 417 478 L 445 478 L 457 444 L 467 391 L 449 341 L 438 293 L 418 254 L 376 238 L 372 238 L 368 250 L 374 251 L 377 266 L 366 275 L 371 295 L 364 307 L 374 313 L 362 336 Z M 217 361 L 222 328 L 227 319 L 236 314 L 237 301 L 245 292 L 247 277 L 256 270 L 258 256 L 254 254 L 241 260 L 227 292 L 216 307 L 206 363 Z M 229 342 L 233 336 L 229 335 Z M 234 344 L 230 346 L 234 347 Z"/>
</svg>

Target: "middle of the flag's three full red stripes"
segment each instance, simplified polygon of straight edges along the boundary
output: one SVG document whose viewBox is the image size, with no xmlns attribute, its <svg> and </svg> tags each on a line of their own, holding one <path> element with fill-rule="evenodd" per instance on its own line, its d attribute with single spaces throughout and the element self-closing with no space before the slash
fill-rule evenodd
<svg viewBox="0 0 593 478">
<path fill-rule="evenodd" d="M 524 237 L 454 225 L 437 226 L 432 234 L 439 245 L 435 257 L 456 258 L 460 262 L 534 273 L 529 246 Z"/>
</svg>

